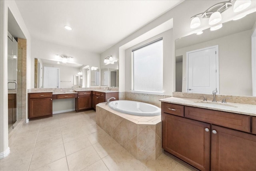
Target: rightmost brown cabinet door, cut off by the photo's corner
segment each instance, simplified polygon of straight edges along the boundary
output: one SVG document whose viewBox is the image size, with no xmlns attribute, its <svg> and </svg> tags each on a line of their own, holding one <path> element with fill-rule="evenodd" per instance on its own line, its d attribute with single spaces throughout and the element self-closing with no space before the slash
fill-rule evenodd
<svg viewBox="0 0 256 171">
<path fill-rule="evenodd" d="M 211 170 L 255 171 L 256 136 L 232 129 L 212 126 Z"/>
</svg>

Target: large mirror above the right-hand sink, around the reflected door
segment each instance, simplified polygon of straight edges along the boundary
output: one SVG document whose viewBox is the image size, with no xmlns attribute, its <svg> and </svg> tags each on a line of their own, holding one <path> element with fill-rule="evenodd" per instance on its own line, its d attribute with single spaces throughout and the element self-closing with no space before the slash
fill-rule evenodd
<svg viewBox="0 0 256 171">
<path fill-rule="evenodd" d="M 210 31 L 209 28 L 201 35 L 192 34 L 175 40 L 176 91 L 188 92 L 186 52 L 218 45 L 219 94 L 252 96 L 255 25 L 256 12 L 223 23 L 219 30 Z"/>
</svg>

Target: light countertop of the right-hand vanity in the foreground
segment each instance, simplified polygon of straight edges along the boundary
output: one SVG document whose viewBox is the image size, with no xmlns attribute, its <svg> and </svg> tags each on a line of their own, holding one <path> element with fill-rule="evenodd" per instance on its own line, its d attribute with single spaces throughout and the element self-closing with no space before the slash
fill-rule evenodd
<svg viewBox="0 0 256 171">
<path fill-rule="evenodd" d="M 186 105 L 192 107 L 199 107 L 204 109 L 212 109 L 218 111 L 226 111 L 231 113 L 238 113 L 243 115 L 256 116 L 256 105 L 241 104 L 241 103 L 217 103 L 212 101 L 202 101 L 199 99 L 186 99 L 179 97 L 169 97 L 166 99 L 160 99 L 159 101 L 166 103 L 174 103 L 178 105 Z"/>
</svg>

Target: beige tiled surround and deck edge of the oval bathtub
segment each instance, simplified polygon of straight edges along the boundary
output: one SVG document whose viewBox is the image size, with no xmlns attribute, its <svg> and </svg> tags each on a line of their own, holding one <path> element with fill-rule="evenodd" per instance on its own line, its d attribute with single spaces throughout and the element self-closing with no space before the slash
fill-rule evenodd
<svg viewBox="0 0 256 171">
<path fill-rule="evenodd" d="M 138 160 L 156 160 L 162 154 L 161 115 L 128 115 L 99 103 L 96 124 Z"/>
</svg>

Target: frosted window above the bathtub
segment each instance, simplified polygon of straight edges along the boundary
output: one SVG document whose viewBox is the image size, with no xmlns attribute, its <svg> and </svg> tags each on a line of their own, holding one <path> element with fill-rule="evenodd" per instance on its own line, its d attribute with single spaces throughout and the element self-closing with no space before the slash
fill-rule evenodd
<svg viewBox="0 0 256 171">
<path fill-rule="evenodd" d="M 163 41 L 155 40 L 133 53 L 133 90 L 163 90 Z"/>
</svg>

